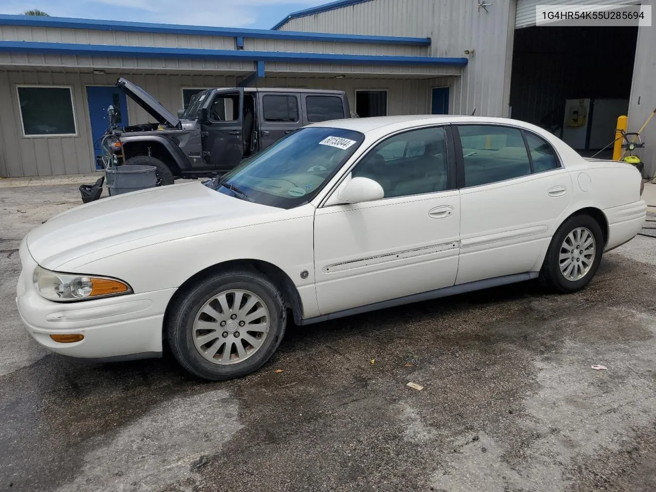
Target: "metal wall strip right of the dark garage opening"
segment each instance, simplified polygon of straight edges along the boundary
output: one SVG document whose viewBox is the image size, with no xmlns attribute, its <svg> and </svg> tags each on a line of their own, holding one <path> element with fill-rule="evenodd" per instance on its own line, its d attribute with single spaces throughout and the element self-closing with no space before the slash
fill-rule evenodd
<svg viewBox="0 0 656 492">
<path fill-rule="evenodd" d="M 651 5 L 656 11 L 654 0 L 644 0 L 644 5 Z M 642 124 L 656 108 L 656 28 L 638 28 L 638 46 L 636 48 L 636 63 L 633 68 L 631 99 L 628 108 L 628 131 L 637 132 Z M 645 148 L 640 151 L 642 161 L 649 176 L 656 174 L 656 117 L 645 127 L 642 140 Z M 656 203 L 649 203 L 656 205 Z"/>
</svg>

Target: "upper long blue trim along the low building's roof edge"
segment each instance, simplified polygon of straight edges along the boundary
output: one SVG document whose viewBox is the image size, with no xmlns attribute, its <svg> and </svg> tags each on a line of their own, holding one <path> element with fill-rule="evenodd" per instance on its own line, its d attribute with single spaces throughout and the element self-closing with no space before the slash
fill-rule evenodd
<svg viewBox="0 0 656 492">
<path fill-rule="evenodd" d="M 289 39 L 292 41 L 323 41 L 326 43 L 369 43 L 386 45 L 430 46 L 429 37 L 365 36 L 316 32 L 272 31 L 268 29 L 214 28 L 209 26 L 178 26 L 122 20 L 89 20 L 66 17 L 0 15 L 0 26 L 33 28 L 88 29 L 93 31 L 151 32 L 197 36 L 251 37 L 256 39 Z"/>
</svg>

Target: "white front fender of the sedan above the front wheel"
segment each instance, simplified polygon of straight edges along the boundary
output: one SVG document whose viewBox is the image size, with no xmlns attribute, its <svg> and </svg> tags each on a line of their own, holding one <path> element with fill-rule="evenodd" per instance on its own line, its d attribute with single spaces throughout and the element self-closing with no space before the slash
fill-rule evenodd
<svg viewBox="0 0 656 492">
<path fill-rule="evenodd" d="M 298 209 L 296 209 L 298 211 Z M 304 317 L 319 316 L 314 289 L 314 207 L 303 216 L 253 225 L 236 225 L 213 232 L 161 234 L 120 245 L 120 252 L 92 259 L 76 258 L 61 265 L 62 272 L 110 275 L 127 281 L 135 293 L 180 287 L 195 274 L 235 260 L 260 260 L 289 276 L 297 288 Z M 144 244 L 150 241 L 150 244 Z M 109 255 L 109 256 L 107 256 Z M 308 276 L 300 273 L 306 270 Z"/>
</svg>

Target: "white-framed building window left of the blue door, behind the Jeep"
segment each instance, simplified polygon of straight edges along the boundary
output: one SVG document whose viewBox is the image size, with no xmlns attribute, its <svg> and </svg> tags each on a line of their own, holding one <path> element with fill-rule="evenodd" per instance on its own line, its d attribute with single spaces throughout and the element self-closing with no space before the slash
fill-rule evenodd
<svg viewBox="0 0 656 492">
<path fill-rule="evenodd" d="M 77 135 L 70 87 L 18 86 L 24 136 Z"/>
</svg>

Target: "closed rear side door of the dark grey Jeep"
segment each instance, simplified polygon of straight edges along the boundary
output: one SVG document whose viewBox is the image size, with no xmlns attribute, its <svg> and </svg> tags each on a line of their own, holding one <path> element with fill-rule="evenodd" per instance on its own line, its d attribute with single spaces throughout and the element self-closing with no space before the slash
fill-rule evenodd
<svg viewBox="0 0 656 492">
<path fill-rule="evenodd" d="M 302 127 L 300 98 L 285 92 L 258 92 L 260 150 Z"/>
</svg>

